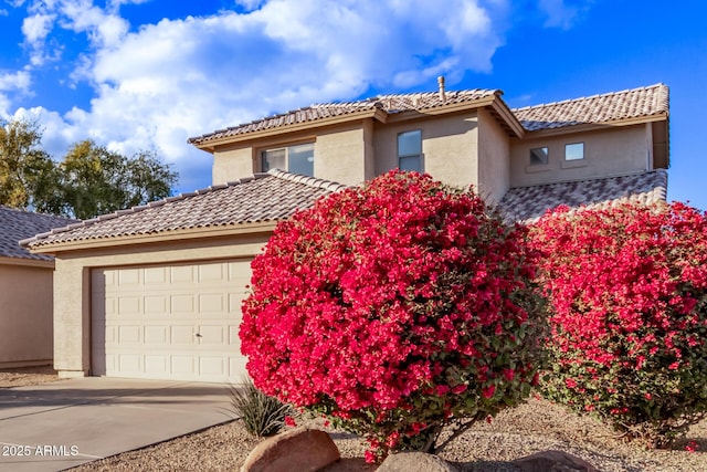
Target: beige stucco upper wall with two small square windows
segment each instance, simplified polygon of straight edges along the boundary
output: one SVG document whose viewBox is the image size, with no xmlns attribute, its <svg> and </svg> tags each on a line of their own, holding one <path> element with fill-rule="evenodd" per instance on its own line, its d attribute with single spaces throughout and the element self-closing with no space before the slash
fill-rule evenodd
<svg viewBox="0 0 707 472">
<path fill-rule="evenodd" d="M 564 145 L 584 143 L 584 159 L 564 161 Z M 549 148 L 547 166 L 529 166 L 530 149 Z M 578 134 L 527 136 L 511 140 L 510 186 L 526 187 L 557 181 L 618 176 L 644 171 L 650 155 L 645 125 L 608 127 Z"/>
</svg>

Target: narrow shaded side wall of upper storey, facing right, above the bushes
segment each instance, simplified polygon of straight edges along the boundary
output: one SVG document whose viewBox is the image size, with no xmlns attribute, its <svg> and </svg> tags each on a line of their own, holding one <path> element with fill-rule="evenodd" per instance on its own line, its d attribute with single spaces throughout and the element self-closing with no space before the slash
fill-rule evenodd
<svg viewBox="0 0 707 472">
<path fill-rule="evenodd" d="M 498 122 L 478 112 L 478 188 L 487 203 L 495 204 L 510 188 L 510 138 Z"/>
</svg>

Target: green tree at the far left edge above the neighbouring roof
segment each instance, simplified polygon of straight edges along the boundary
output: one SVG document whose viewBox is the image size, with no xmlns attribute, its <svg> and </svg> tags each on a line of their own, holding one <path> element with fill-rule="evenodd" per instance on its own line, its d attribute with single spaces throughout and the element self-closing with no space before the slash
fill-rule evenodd
<svg viewBox="0 0 707 472">
<path fill-rule="evenodd" d="M 0 122 L 0 204 L 61 213 L 57 167 L 41 148 L 39 122 Z"/>
</svg>

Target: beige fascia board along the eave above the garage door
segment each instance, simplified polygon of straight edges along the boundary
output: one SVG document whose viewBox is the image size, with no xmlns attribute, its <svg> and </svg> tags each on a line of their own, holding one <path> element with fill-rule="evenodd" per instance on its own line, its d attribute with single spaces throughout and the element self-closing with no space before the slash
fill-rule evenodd
<svg viewBox="0 0 707 472">
<path fill-rule="evenodd" d="M 223 227 L 189 228 L 186 230 L 163 231 L 149 234 L 129 234 L 110 238 L 83 239 L 76 241 L 56 242 L 34 248 L 29 248 L 32 253 L 57 254 L 60 252 L 78 251 L 86 249 L 116 248 L 123 245 L 147 244 L 155 242 L 186 241 L 203 238 L 220 238 L 230 235 L 272 232 L 277 225 L 276 221 L 257 223 L 243 223 Z"/>
</svg>

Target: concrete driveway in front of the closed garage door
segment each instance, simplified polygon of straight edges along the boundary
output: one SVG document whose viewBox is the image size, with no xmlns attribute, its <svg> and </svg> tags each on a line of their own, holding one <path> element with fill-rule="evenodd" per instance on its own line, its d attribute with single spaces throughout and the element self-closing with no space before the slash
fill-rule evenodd
<svg viewBox="0 0 707 472">
<path fill-rule="evenodd" d="M 220 384 L 103 377 L 0 389 L 0 471 L 60 471 L 232 419 Z"/>
</svg>

